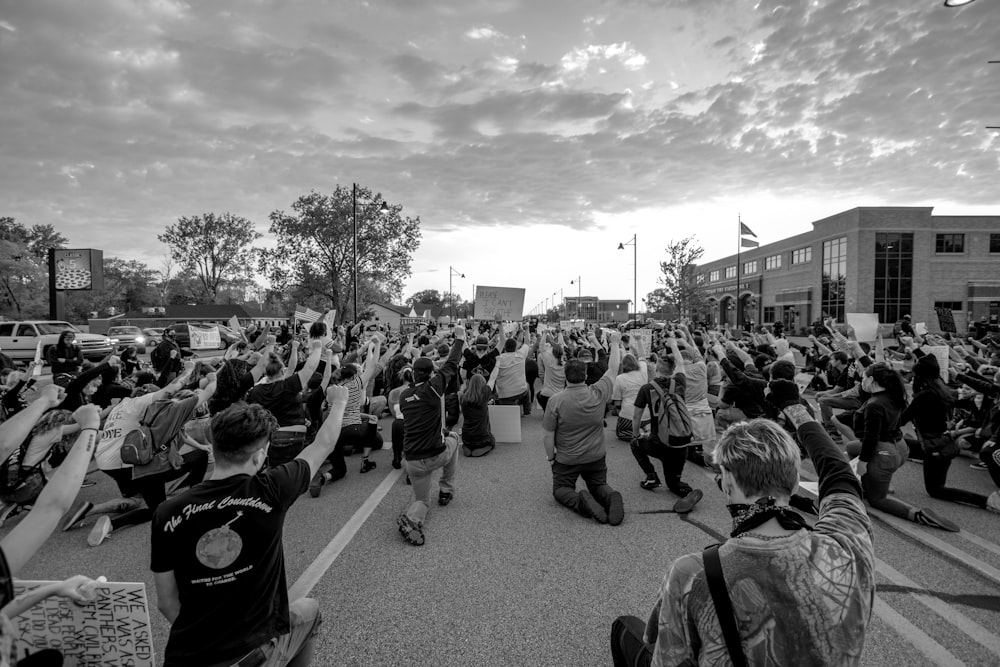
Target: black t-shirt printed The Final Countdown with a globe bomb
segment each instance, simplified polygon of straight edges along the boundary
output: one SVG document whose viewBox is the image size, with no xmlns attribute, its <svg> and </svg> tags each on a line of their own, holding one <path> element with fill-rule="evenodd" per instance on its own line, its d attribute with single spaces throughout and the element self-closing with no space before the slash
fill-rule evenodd
<svg viewBox="0 0 1000 667">
<path fill-rule="evenodd" d="M 202 482 L 157 508 L 151 569 L 173 572 L 181 603 L 165 667 L 235 660 L 289 631 L 282 531 L 309 479 L 295 459 Z"/>
</svg>

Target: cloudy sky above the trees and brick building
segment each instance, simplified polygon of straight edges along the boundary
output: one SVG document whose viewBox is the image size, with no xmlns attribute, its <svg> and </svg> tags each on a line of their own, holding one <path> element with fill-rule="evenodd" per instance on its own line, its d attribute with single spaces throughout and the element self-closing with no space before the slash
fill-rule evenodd
<svg viewBox="0 0 1000 667">
<path fill-rule="evenodd" d="M 0 215 L 158 267 L 179 216 L 357 181 L 420 216 L 404 296 L 629 299 L 637 234 L 641 299 L 738 215 L 1000 214 L 1000 0 L 941 5 L 0 0 Z"/>
</svg>

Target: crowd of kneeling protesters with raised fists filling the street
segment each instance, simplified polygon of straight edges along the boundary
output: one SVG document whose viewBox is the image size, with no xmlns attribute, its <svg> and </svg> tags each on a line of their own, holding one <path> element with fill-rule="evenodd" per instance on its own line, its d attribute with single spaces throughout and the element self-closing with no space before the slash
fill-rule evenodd
<svg viewBox="0 0 1000 667">
<path fill-rule="evenodd" d="M 872 347 L 832 321 L 803 344 L 763 328 L 691 323 L 637 333 L 498 322 L 404 333 L 319 321 L 251 327 L 222 357 L 198 358 L 168 329 L 149 365 L 134 349 L 89 364 L 72 336 L 61 337 L 48 355 L 51 383 L 30 366 L 0 371 L 0 519 L 17 521 L 0 542 L 0 620 L 46 595 L 85 601 L 99 585 L 74 577 L 14 598 L 13 577 L 60 523 L 68 531 L 93 520 L 92 547 L 151 524 L 157 604 L 171 623 L 167 665 L 309 664 L 320 614 L 313 600 L 288 599 L 288 508 L 343 479 L 355 453 L 359 474 L 376 469 L 388 418 L 392 467 L 413 494 L 396 525 L 408 544 L 425 544 L 435 478 L 437 504 L 447 506 L 459 454 L 496 447 L 490 405 L 525 417 L 540 408 L 555 501 L 601 524 L 625 518 L 608 447 L 628 447 L 636 462 L 634 482 L 619 488 L 665 485 L 680 514 L 704 497 L 684 481 L 686 465 L 716 473 L 733 539 L 675 562 L 648 621 L 614 623 L 616 665 L 714 662 L 727 652 L 735 662 L 736 651 L 747 664 L 802 655 L 856 664 L 874 595 L 865 502 L 959 530 L 890 494 L 893 473 L 915 461 L 931 497 L 1000 512 L 998 491 L 947 486 L 963 450 L 1000 486 L 1000 342 L 990 336 L 901 327 L 893 344 Z M 803 458 L 819 476 L 818 502 L 797 492 Z M 74 502 L 92 463 L 118 494 Z M 720 569 L 723 591 L 741 591 L 726 613 Z M 771 598 L 780 604 L 759 604 Z M 712 606 L 717 613 L 703 613 Z M 738 637 L 727 613 L 750 619 Z M 0 665 L 61 664 L 52 652 L 17 662 L 6 623 L 0 636 Z"/>
</svg>

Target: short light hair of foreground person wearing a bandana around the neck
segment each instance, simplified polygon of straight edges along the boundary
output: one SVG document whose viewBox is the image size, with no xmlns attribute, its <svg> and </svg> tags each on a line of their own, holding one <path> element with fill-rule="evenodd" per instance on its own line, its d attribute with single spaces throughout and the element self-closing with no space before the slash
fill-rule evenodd
<svg viewBox="0 0 1000 667">
<path fill-rule="evenodd" d="M 733 424 L 713 455 L 746 496 L 791 496 L 799 483 L 799 446 L 770 419 Z"/>
</svg>

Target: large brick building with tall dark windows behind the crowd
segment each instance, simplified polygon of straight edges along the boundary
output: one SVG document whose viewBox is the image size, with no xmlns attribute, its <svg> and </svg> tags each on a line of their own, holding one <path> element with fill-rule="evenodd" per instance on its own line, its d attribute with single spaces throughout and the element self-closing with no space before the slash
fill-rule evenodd
<svg viewBox="0 0 1000 667">
<path fill-rule="evenodd" d="M 752 320 L 799 332 L 824 313 L 909 314 L 938 331 L 935 308 L 964 332 L 1000 321 L 1000 216 L 932 215 L 930 207 L 863 207 L 817 220 L 813 230 L 701 264 L 713 324 Z"/>
</svg>

